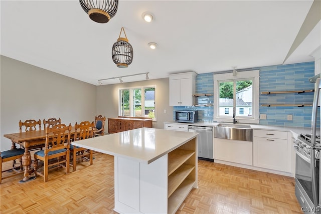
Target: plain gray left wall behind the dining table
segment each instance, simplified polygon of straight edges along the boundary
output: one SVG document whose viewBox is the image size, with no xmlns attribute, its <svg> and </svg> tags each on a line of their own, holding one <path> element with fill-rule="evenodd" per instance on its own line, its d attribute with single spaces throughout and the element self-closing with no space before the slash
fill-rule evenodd
<svg viewBox="0 0 321 214">
<path fill-rule="evenodd" d="M 96 86 L 5 56 L 0 60 L 1 150 L 10 149 L 4 134 L 19 132 L 19 120 L 60 117 L 74 125 L 95 119 Z"/>
</svg>

